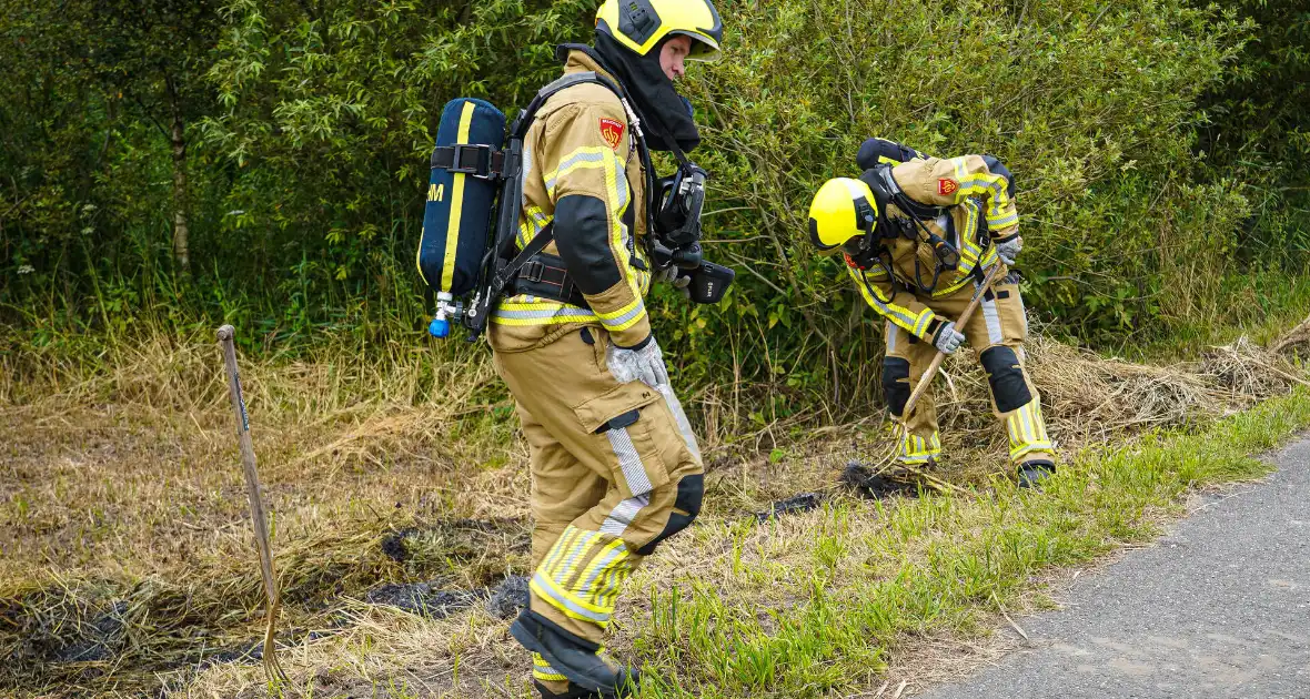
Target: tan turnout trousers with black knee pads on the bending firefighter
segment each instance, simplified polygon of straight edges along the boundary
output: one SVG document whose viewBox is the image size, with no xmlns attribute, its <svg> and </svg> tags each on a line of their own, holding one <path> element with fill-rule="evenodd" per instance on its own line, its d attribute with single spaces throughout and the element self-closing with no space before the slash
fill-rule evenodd
<svg viewBox="0 0 1310 699">
<path fill-rule="evenodd" d="M 920 300 L 938 315 L 955 319 L 964 312 L 972 293 L 972 287 L 964 287 L 950 296 Z M 992 412 L 1010 437 L 1010 461 L 1015 465 L 1040 461 L 1053 463 L 1055 450 L 1041 418 L 1040 395 L 1023 368 L 1023 340 L 1027 339 L 1028 323 L 1018 284 L 1007 280 L 988 291 L 965 327 L 958 330 L 968 338 L 975 357 L 986 370 Z M 897 419 L 934 355 L 937 347 L 933 343 L 913 338 L 896 325 L 887 323 L 883 390 L 891 412 Z M 899 457 L 901 463 L 925 463 L 941 454 L 942 441 L 937 432 L 937 406 L 931 386 L 914 404 L 905 427 Z"/>
</svg>

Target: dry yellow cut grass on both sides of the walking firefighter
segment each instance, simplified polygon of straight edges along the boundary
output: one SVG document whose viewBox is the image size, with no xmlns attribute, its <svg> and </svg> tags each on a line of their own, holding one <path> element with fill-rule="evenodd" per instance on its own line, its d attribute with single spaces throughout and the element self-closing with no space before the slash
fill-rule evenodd
<svg viewBox="0 0 1310 699">
<path fill-rule="evenodd" d="M 257 692 L 258 664 L 223 662 L 258 639 L 261 592 L 215 344 L 152 338 L 81 361 L 9 350 L 0 352 L 0 658 L 9 660 L 0 686 Z M 1066 453 L 1200 425 L 1301 381 L 1281 356 L 1243 342 L 1170 367 L 1041 338 L 1028 357 Z M 1005 449 L 985 377 L 963 357 L 945 376 L 937 393 L 952 454 L 946 467 L 955 482 L 985 483 L 1003 467 Z M 244 361 L 242 381 L 274 512 L 290 632 L 283 665 L 299 686 L 320 695 L 390 686 L 397 695 L 521 696 L 525 656 L 481 607 L 422 619 L 362 602 L 385 582 L 477 589 L 525 572 L 527 452 L 487 363 L 456 343 L 389 346 Z M 694 573 L 723 581 L 730 601 L 786 606 L 798 571 L 814 568 L 812 528 L 828 520 L 814 512 L 756 528 L 741 516 L 802 491 L 828 493 L 829 508 L 869 508 L 837 492 L 833 476 L 848 458 L 880 449 L 886 429 L 876 418 L 815 429 L 770 458 L 739 446 L 751 440 L 727 444 L 714 428 L 727 423 L 722 403 L 700 398 L 689 403 L 711 423 L 706 512 L 633 589 Z M 403 555 L 398 531 L 407 534 Z M 617 648 L 641 643 L 638 620 L 654 613 L 648 596 L 629 597 Z M 914 643 L 960 641 L 929 634 L 904 648 Z M 889 658 L 893 668 L 904 653 Z"/>
</svg>

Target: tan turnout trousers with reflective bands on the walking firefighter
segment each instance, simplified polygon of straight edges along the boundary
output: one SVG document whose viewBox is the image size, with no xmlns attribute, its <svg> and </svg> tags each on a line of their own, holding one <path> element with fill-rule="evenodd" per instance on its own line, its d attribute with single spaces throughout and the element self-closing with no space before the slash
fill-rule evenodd
<svg viewBox="0 0 1310 699">
<path fill-rule="evenodd" d="M 532 469 L 529 607 L 599 644 L 631 571 L 701 508 L 702 466 L 681 406 L 605 364 L 609 336 L 576 326 L 495 368 L 517 403 Z M 537 656 L 533 677 L 567 685 Z"/>
</svg>

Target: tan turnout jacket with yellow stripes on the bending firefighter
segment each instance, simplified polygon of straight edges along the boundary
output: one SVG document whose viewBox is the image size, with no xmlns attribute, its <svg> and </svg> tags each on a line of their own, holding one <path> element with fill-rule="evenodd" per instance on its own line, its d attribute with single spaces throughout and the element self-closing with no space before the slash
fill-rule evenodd
<svg viewBox="0 0 1310 699">
<path fill-rule="evenodd" d="M 929 216 L 918 216 L 927 230 L 941 236 L 960 251 L 955 270 L 943 270 L 931 292 L 925 284 L 933 280 L 937 258 L 926 242 L 920 241 L 918 229 L 908 220 L 908 213 L 895 204 L 879 212 L 874 236 L 886 234 L 883 226 L 909 224 L 908 236 L 884 237 L 883 264 L 874 262 L 861 267 L 846 255 L 846 271 L 855 279 L 855 287 L 865 301 L 880 315 L 907 332 L 929 339 L 937 332 L 941 319 L 925 304 L 927 298 L 950 296 L 971 281 L 975 268 L 988 268 L 997 262 L 996 249 L 988 243 L 1005 242 L 1019 234 L 1019 213 L 1014 206 L 1014 183 L 1010 171 L 992 156 L 960 156 L 954 158 L 924 157 L 907 162 L 880 158 L 891 165 L 870 169 L 861 175 L 876 191 L 872 178 L 889 174 L 895 185 L 910 202 L 924 204 Z M 922 212 L 920 212 L 922 213 Z"/>
</svg>

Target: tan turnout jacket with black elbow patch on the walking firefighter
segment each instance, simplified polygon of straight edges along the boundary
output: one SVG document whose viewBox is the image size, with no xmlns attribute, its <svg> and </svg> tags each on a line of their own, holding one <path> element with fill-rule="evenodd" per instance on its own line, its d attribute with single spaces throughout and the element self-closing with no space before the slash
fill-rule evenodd
<svg viewBox="0 0 1310 699">
<path fill-rule="evenodd" d="M 565 73 L 595 71 L 614 82 L 582 51 L 571 51 Z M 614 344 L 633 347 L 650 336 L 645 296 L 646 171 L 624 103 L 603 85 L 559 90 L 541 106 L 524 137 L 523 209 L 516 245 L 523 247 L 548 224 L 558 255 L 583 292 L 582 308 L 517 295 L 491 315 L 490 342 L 498 351 L 523 351 L 600 325 Z"/>
</svg>

